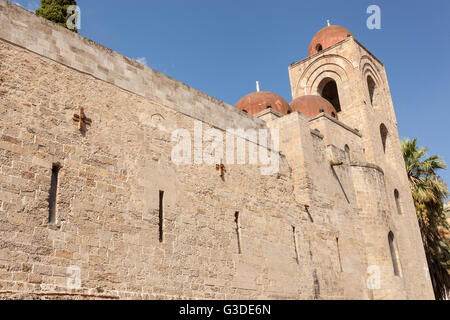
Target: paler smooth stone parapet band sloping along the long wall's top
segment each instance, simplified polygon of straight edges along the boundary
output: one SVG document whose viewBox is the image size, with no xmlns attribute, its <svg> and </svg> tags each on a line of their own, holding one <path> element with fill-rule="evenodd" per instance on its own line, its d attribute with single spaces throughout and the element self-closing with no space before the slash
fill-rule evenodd
<svg viewBox="0 0 450 320">
<path fill-rule="evenodd" d="M 6 0 L 0 0 L 0 25 L 3 40 L 215 127 L 264 126 L 259 119 Z"/>
</svg>

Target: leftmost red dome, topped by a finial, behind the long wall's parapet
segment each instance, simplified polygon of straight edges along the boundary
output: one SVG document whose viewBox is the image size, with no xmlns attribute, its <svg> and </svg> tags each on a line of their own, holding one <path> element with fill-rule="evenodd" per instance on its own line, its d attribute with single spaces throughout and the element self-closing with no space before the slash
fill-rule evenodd
<svg viewBox="0 0 450 320">
<path fill-rule="evenodd" d="M 291 110 L 286 100 L 276 93 L 268 91 L 250 93 L 236 103 L 236 108 L 252 115 L 266 110 L 269 106 L 283 115 L 288 114 Z"/>
</svg>

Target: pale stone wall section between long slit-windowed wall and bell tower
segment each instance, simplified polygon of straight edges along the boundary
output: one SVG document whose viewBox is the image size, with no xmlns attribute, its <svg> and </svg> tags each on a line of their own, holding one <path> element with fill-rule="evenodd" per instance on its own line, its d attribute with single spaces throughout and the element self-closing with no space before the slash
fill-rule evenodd
<svg viewBox="0 0 450 320">
<path fill-rule="evenodd" d="M 318 122 L 320 119 L 323 123 Z M 320 283 L 327 284 L 322 287 L 329 290 L 337 286 L 346 299 L 369 299 L 370 292 L 365 284 L 368 264 L 365 247 L 361 246 L 363 230 L 350 163 L 343 149 L 328 143 L 334 136 L 334 141 L 340 145 L 337 139 L 342 137 L 342 141 L 359 147 L 360 136 L 324 114 L 317 119 L 307 119 L 294 112 L 273 119 L 268 125 L 280 130 L 280 151 L 286 154 L 292 168 L 294 194 L 297 201 L 307 207 L 310 229 L 305 232 L 311 234 L 312 252 L 314 255 L 320 254 L 322 263 L 330 261 L 336 273 L 335 278 L 330 278 L 325 268 L 321 267 L 318 270 Z M 320 133 L 317 128 L 320 128 Z M 353 140 L 345 140 L 346 133 Z M 357 150 L 355 147 L 355 158 L 358 156 Z M 333 168 L 330 166 L 331 160 L 342 161 L 343 165 Z M 327 240 L 328 252 L 315 247 L 318 239 Z M 330 252 L 332 256 L 327 256 Z"/>
</svg>

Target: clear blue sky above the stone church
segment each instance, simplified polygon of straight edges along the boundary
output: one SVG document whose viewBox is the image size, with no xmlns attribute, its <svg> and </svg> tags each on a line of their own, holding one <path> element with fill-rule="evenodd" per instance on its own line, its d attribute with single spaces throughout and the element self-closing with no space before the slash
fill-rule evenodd
<svg viewBox="0 0 450 320">
<path fill-rule="evenodd" d="M 16 0 L 32 8 L 37 0 Z M 382 29 L 366 27 L 379 5 Z M 263 90 L 291 101 L 288 66 L 330 19 L 384 62 L 400 137 L 450 164 L 450 1 L 78 0 L 80 34 L 234 105 Z M 450 182 L 449 170 L 441 174 Z"/>
</svg>

